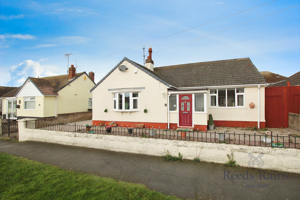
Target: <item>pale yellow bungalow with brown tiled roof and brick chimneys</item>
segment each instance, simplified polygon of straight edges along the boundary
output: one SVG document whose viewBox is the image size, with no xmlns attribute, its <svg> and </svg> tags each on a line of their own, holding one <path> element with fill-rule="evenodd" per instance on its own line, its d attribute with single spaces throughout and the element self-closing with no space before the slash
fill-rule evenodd
<svg viewBox="0 0 300 200">
<path fill-rule="evenodd" d="M 3 111 L 23 118 L 56 117 L 58 114 L 92 109 L 94 72 L 76 73 L 74 65 L 69 74 L 43 78 L 28 77 L 24 84 L 1 97 Z"/>
</svg>

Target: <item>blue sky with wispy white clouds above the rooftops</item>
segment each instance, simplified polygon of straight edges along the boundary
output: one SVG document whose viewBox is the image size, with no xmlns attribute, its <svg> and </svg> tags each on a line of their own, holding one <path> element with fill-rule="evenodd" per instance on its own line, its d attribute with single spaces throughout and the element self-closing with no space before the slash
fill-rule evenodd
<svg viewBox="0 0 300 200">
<path fill-rule="evenodd" d="M 289 77 L 300 71 L 299 4 L 0 0 L 0 86 L 67 74 L 71 64 L 97 83 L 124 57 L 143 65 L 150 45 L 154 67 L 249 57 Z"/>
</svg>

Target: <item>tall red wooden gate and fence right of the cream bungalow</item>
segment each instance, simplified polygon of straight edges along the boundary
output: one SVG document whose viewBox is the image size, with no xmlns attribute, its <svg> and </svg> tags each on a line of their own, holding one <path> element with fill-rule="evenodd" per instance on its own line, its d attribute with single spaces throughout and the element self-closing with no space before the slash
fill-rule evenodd
<svg viewBox="0 0 300 200">
<path fill-rule="evenodd" d="M 300 86 L 265 88 L 266 127 L 289 127 L 289 112 L 300 114 L 299 108 Z"/>
</svg>

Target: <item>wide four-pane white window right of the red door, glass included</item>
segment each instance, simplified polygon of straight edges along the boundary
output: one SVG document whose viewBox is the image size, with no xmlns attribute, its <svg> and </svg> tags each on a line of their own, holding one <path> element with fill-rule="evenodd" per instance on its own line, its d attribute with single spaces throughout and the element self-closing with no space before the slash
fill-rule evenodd
<svg viewBox="0 0 300 200">
<path fill-rule="evenodd" d="M 210 89 L 210 107 L 245 107 L 245 89 Z"/>
</svg>

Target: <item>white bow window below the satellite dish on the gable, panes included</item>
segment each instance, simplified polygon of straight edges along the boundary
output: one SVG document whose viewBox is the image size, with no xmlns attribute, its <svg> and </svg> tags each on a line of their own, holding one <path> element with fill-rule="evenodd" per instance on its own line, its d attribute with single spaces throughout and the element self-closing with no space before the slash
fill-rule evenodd
<svg viewBox="0 0 300 200">
<path fill-rule="evenodd" d="M 113 94 L 114 111 L 137 111 L 139 109 L 138 92 L 120 92 Z"/>
</svg>

